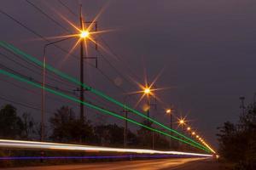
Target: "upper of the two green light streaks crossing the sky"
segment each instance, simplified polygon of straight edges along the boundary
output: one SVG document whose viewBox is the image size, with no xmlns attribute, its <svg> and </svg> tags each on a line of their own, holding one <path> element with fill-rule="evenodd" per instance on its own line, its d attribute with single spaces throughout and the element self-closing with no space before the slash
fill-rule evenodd
<svg viewBox="0 0 256 170">
<path fill-rule="evenodd" d="M 25 57 L 26 59 L 31 60 L 33 63 L 35 63 L 35 64 L 37 64 L 37 65 L 40 65 L 40 66 L 43 66 L 43 65 L 44 65 L 43 62 L 41 62 L 40 60 L 38 60 L 38 59 L 32 57 L 32 56 L 29 55 L 29 54 L 24 53 L 23 51 L 21 51 L 21 50 L 18 49 L 18 48 L 15 48 L 13 45 L 9 44 L 8 42 L 0 41 L 0 46 L 2 46 L 3 48 L 9 49 L 10 51 L 12 51 L 12 52 L 15 53 L 15 54 L 21 55 L 21 56 Z M 176 133 L 177 135 L 183 137 L 184 139 L 187 139 L 187 140 L 189 140 L 190 142 L 192 142 L 192 143 L 194 143 L 194 144 L 196 144 L 196 145 L 198 145 L 198 146 L 201 146 L 201 147 L 203 147 L 203 148 L 205 148 L 205 149 L 208 150 L 208 148 L 207 148 L 206 146 L 204 146 L 204 145 L 202 145 L 202 144 L 196 142 L 195 140 L 188 138 L 187 136 L 183 135 L 182 133 L 178 133 L 176 130 L 173 130 L 173 129 L 170 128 L 170 127 L 166 127 L 164 124 L 161 124 L 160 122 L 155 121 L 154 119 L 152 119 L 152 118 L 150 118 L 150 117 L 144 115 L 143 113 L 141 113 L 141 112 L 139 112 L 139 111 L 136 111 L 136 110 L 132 109 L 131 107 L 120 103 L 118 100 L 113 99 L 113 98 L 109 97 L 109 96 L 106 95 L 106 94 L 102 94 L 102 92 L 100 92 L 100 91 L 98 91 L 98 90 L 96 90 L 96 89 L 94 89 L 94 88 L 91 88 L 90 86 L 88 86 L 88 85 L 86 85 L 86 84 L 84 84 L 84 83 L 79 82 L 76 78 L 70 77 L 69 75 L 67 75 L 67 74 L 65 74 L 65 73 L 63 73 L 63 72 L 61 72 L 61 71 L 55 69 L 55 68 L 52 67 L 51 65 L 45 65 L 45 68 L 46 68 L 47 70 L 49 70 L 49 71 L 54 72 L 56 75 L 59 75 L 59 76 L 65 78 L 65 79 L 67 79 L 67 80 L 70 81 L 70 82 L 74 82 L 74 83 L 78 84 L 79 86 L 82 85 L 85 89 L 88 89 L 91 93 L 96 94 L 96 95 L 98 95 L 98 96 L 100 96 L 100 97 L 102 97 L 102 98 L 104 98 L 104 99 L 107 99 L 108 101 L 111 101 L 112 103 L 114 103 L 114 104 L 116 104 L 116 105 L 119 105 L 120 107 L 123 107 L 125 110 L 131 111 L 132 113 L 137 114 L 138 116 L 142 116 L 143 118 L 148 119 L 150 122 L 154 122 L 155 124 L 159 125 L 160 127 L 163 127 L 163 128 L 165 128 L 166 130 L 171 131 L 172 133 Z"/>
</svg>

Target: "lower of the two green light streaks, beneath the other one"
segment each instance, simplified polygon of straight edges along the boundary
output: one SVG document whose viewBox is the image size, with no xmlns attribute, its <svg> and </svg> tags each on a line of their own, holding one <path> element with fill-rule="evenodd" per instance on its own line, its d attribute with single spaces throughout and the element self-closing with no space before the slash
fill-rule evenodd
<svg viewBox="0 0 256 170">
<path fill-rule="evenodd" d="M 8 76 L 8 77 L 15 78 L 16 80 L 19 80 L 20 82 L 26 82 L 26 83 L 28 83 L 28 84 L 34 86 L 34 87 L 43 88 L 41 84 L 38 84 L 38 83 L 36 83 L 36 82 L 31 82 L 31 81 L 29 81 L 28 79 L 23 78 L 23 77 L 20 77 L 20 76 L 17 76 L 17 75 L 15 75 L 15 74 L 13 74 L 13 73 L 10 73 L 9 71 L 0 70 L 0 73 L 3 74 L 3 75 L 5 75 L 5 76 Z M 59 95 L 59 96 L 61 96 L 61 97 L 63 97 L 63 98 L 70 99 L 70 100 L 72 100 L 72 101 L 74 101 L 74 102 L 77 102 L 77 103 L 81 103 L 81 104 L 83 104 L 83 105 L 85 105 L 85 106 L 87 106 L 87 107 L 90 107 L 90 108 L 92 108 L 92 109 L 94 109 L 94 110 L 96 110 L 96 111 L 101 111 L 102 113 L 105 113 L 105 114 L 108 114 L 108 115 L 111 115 L 111 116 L 115 116 L 115 117 L 117 117 L 117 118 L 119 118 L 119 119 L 123 119 L 123 120 L 126 120 L 126 121 L 128 121 L 128 122 L 132 122 L 132 123 L 134 123 L 134 124 L 137 124 L 137 125 L 140 126 L 140 127 L 145 127 L 145 128 L 147 128 L 148 130 L 151 130 L 151 131 L 154 131 L 154 132 L 156 132 L 156 133 L 160 133 L 160 134 L 166 135 L 166 136 L 168 136 L 168 137 L 170 137 L 170 138 L 172 138 L 172 139 L 177 139 L 177 140 L 179 140 L 179 141 L 181 141 L 181 142 L 183 142 L 183 143 L 185 143 L 185 144 L 192 145 L 192 146 L 194 146 L 194 147 L 196 147 L 196 148 L 198 148 L 198 149 L 205 150 L 205 151 L 211 153 L 209 150 L 206 150 L 205 148 L 202 148 L 202 147 L 200 147 L 200 146 L 198 146 L 198 145 L 196 145 L 196 144 L 191 144 L 191 143 L 189 143 L 188 141 L 183 140 L 183 139 L 178 139 L 177 137 L 172 136 L 172 135 L 169 134 L 169 133 L 165 133 L 165 132 L 162 132 L 162 131 L 160 131 L 160 130 L 158 130 L 158 129 L 155 129 L 155 128 L 152 128 L 152 127 L 148 127 L 148 126 L 146 126 L 146 125 L 143 125 L 143 124 L 140 123 L 140 122 L 136 122 L 136 121 L 134 121 L 134 120 L 132 120 L 132 119 L 125 118 L 124 116 L 119 116 L 118 114 L 115 114 L 115 113 L 113 113 L 112 111 L 108 111 L 108 110 L 102 109 L 101 107 L 99 107 L 99 106 L 97 106 L 97 105 L 92 105 L 92 104 L 90 104 L 90 103 L 83 102 L 83 101 L 81 101 L 81 100 L 79 100 L 79 99 L 73 98 L 73 97 L 70 96 L 70 95 L 63 94 L 63 93 L 58 92 L 58 91 L 55 91 L 55 90 L 53 90 L 53 89 L 51 89 L 51 88 L 44 88 L 44 89 L 45 89 L 46 91 L 48 91 L 49 93 L 51 93 L 51 94 Z"/>
</svg>

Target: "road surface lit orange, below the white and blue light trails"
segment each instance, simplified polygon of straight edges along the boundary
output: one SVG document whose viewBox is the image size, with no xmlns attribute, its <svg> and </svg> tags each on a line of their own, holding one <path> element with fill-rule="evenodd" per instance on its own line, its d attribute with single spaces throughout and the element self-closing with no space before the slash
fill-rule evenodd
<svg viewBox="0 0 256 170">
<path fill-rule="evenodd" d="M 0 168 L 1 169 L 1 168 Z M 79 165 L 61 165 L 47 167 L 15 167 L 8 170 L 220 170 L 219 165 L 212 158 L 179 158 L 179 159 L 158 159 L 143 161 L 113 161 L 86 163 Z M 2 169 L 1 169 L 2 170 Z"/>
</svg>

